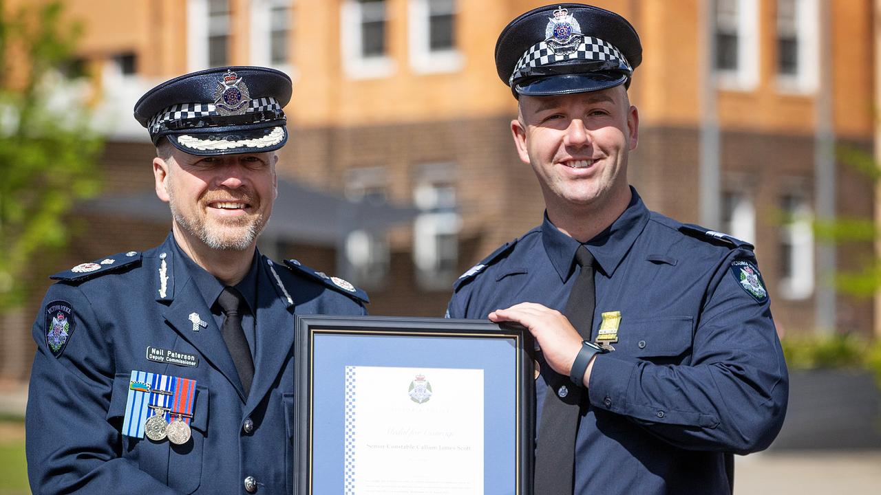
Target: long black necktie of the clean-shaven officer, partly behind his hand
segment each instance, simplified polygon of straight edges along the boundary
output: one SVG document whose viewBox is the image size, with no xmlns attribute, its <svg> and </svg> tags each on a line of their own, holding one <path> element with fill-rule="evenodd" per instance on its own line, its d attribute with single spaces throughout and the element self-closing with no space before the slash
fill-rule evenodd
<svg viewBox="0 0 881 495">
<path fill-rule="evenodd" d="M 594 256 L 581 246 L 575 251 L 575 262 L 581 266 L 581 273 L 575 279 L 563 314 L 581 338 L 589 340 L 594 322 Z M 545 370 L 548 389 L 538 427 L 535 491 L 537 495 L 572 495 L 582 389 L 550 366 Z"/>
</svg>

